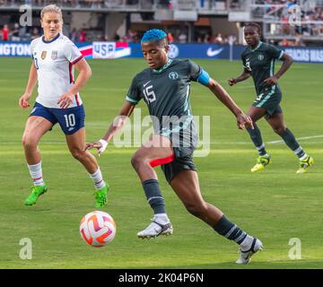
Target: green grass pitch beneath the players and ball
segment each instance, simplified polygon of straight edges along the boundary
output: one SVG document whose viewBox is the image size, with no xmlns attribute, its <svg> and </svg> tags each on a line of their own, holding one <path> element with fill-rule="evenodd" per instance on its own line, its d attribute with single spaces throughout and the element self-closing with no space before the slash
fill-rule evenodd
<svg viewBox="0 0 323 287">
<path fill-rule="evenodd" d="M 89 61 L 92 79 L 83 88 L 87 141 L 100 138 L 117 115 L 132 77 L 145 67 L 143 59 Z M 241 72 L 240 62 L 196 60 L 223 84 L 244 110 L 255 97 L 252 80 L 229 87 L 227 79 Z M 167 211 L 174 227 L 171 237 L 141 240 L 153 213 L 132 169 L 135 148 L 113 144 L 99 158 L 109 181 L 109 204 L 103 211 L 117 222 L 117 236 L 105 248 L 87 246 L 79 234 L 84 214 L 95 208 L 92 181 L 67 150 L 59 126 L 39 144 L 48 193 L 32 206 L 23 200 L 31 179 L 21 137 L 29 110 L 18 107 L 31 60 L 0 59 L 0 268 L 322 268 L 323 267 L 323 117 L 322 65 L 294 64 L 280 83 L 287 126 L 315 159 L 307 174 L 295 174 L 298 160 L 260 120 L 273 164 L 264 172 L 249 169 L 258 156 L 245 131 L 236 128 L 231 112 L 205 87 L 192 83 L 195 115 L 211 117 L 211 151 L 196 158 L 202 193 L 232 222 L 262 239 L 265 250 L 247 266 L 234 264 L 238 246 L 217 235 L 190 215 L 157 168 Z M 36 93 L 36 91 L 35 91 Z M 35 93 L 33 100 L 35 99 Z M 32 101 L 33 102 L 33 101 Z M 144 103 L 138 108 L 147 114 Z M 32 259 L 22 260 L 20 240 L 32 241 Z M 292 260 L 290 239 L 301 240 L 301 259 Z"/>
</svg>

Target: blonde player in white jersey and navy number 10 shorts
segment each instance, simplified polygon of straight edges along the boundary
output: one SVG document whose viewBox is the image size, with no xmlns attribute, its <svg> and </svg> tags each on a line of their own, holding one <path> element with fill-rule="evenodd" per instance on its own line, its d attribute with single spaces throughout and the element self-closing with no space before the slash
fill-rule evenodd
<svg viewBox="0 0 323 287">
<path fill-rule="evenodd" d="M 90 66 L 74 43 L 61 31 L 62 12 L 55 4 L 45 6 L 40 13 L 44 35 L 31 41 L 33 62 L 29 80 L 19 100 L 22 109 L 30 107 L 29 100 L 38 82 L 38 97 L 27 120 L 22 144 L 33 186 L 24 204 L 36 204 L 39 196 L 47 192 L 41 169 L 38 143 L 57 123 L 65 133 L 69 151 L 80 161 L 93 180 L 96 189 L 95 207 L 107 203 L 109 185 L 103 180 L 100 167 L 91 152 L 85 148 L 85 112 L 79 94 L 92 75 Z M 74 81 L 74 66 L 80 72 Z"/>
</svg>

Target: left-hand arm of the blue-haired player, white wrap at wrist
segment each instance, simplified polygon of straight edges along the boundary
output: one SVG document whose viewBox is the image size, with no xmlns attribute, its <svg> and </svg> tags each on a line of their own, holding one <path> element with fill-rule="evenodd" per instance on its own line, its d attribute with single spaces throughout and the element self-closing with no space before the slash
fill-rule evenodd
<svg viewBox="0 0 323 287">
<path fill-rule="evenodd" d="M 123 104 L 118 116 L 115 117 L 114 121 L 109 125 L 109 128 L 105 135 L 98 141 L 94 143 L 86 143 L 85 150 L 91 150 L 96 148 L 99 150 L 98 155 L 105 151 L 108 146 L 109 141 L 114 135 L 118 133 L 120 129 L 127 123 L 127 119 L 131 116 L 135 109 L 135 105 L 128 100 Z"/>
</svg>

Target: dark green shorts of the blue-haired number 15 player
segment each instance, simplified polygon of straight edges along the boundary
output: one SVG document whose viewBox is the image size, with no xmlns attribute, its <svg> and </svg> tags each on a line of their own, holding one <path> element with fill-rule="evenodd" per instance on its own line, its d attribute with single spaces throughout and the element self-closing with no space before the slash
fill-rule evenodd
<svg viewBox="0 0 323 287">
<path fill-rule="evenodd" d="M 197 171 L 192 157 L 195 148 L 174 147 L 173 150 L 175 153 L 175 160 L 171 161 L 170 163 L 162 165 L 162 172 L 164 173 L 165 178 L 169 183 L 182 170 Z"/>
</svg>

